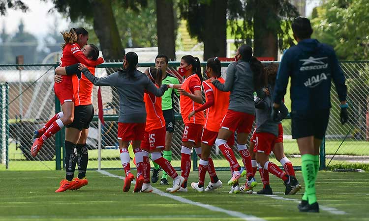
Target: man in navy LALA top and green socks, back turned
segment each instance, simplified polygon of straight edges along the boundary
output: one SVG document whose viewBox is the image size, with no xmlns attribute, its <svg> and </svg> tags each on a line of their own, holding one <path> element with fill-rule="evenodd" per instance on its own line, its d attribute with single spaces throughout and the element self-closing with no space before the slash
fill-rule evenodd
<svg viewBox="0 0 369 221">
<path fill-rule="evenodd" d="M 340 120 L 348 120 L 347 87 L 335 51 L 311 39 L 312 28 L 307 18 L 292 23 L 296 46 L 289 48 L 279 65 L 274 109 L 279 110 L 289 78 L 291 78 L 292 138 L 297 139 L 301 153 L 301 170 L 305 193 L 298 208 L 301 212 L 319 212 L 315 180 L 319 170 L 319 149 L 329 120 L 331 81 L 335 83 L 340 101 Z"/>
</svg>

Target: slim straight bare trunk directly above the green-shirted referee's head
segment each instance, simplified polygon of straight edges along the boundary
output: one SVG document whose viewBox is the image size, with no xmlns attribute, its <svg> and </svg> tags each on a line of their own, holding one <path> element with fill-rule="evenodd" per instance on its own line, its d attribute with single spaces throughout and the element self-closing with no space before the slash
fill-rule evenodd
<svg viewBox="0 0 369 221">
<path fill-rule="evenodd" d="M 176 59 L 173 0 L 156 0 L 157 47 L 159 54 Z"/>
</svg>

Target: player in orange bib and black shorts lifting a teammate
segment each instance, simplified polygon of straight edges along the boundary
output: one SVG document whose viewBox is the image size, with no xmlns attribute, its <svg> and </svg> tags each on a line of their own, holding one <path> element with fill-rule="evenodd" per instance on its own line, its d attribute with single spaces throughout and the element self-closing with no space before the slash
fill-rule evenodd
<svg viewBox="0 0 369 221">
<path fill-rule="evenodd" d="M 99 49 L 95 45 L 86 45 L 82 49 L 83 54 L 89 60 L 97 60 Z M 65 172 L 66 176 L 60 183 L 60 187 L 55 192 L 66 190 L 77 190 L 88 184 L 86 170 L 89 161 L 88 148 L 86 146 L 89 134 L 90 122 L 93 118 L 92 88 L 93 84 L 78 70 L 78 63 L 68 67 L 57 67 L 55 69 L 55 82 L 63 81 L 62 75 L 72 75 L 74 102 L 74 120 L 66 126 L 65 143 L 74 145 L 70 151 L 66 149 Z M 94 75 L 95 68 L 88 67 Z M 77 74 L 76 74 L 77 73 Z M 74 177 L 74 170 L 78 164 L 78 177 Z"/>
</svg>

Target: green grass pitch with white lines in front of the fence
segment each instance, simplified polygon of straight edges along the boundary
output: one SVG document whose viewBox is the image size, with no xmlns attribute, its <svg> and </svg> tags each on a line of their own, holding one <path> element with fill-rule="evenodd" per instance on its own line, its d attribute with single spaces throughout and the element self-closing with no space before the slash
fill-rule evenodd
<svg viewBox="0 0 369 221">
<path fill-rule="evenodd" d="M 153 185 L 158 189 L 153 193 L 123 193 L 123 180 L 110 177 L 121 176 L 123 171 L 106 172 L 88 171 L 88 186 L 54 193 L 65 175 L 63 171 L 0 171 L 0 221 L 368 220 L 367 172 L 319 172 L 316 182 L 319 214 L 298 212 L 302 193 L 283 195 L 282 182 L 272 175 L 275 195 L 266 196 L 229 194 L 228 186 L 212 193 L 196 193 L 189 187 L 188 193 L 169 194 L 164 193 L 168 186 L 159 184 Z M 223 183 L 227 182 L 229 172 L 221 171 L 218 175 Z M 296 175 L 302 182 L 301 172 Z M 192 181 L 197 181 L 196 171 L 190 174 L 189 182 Z"/>
</svg>

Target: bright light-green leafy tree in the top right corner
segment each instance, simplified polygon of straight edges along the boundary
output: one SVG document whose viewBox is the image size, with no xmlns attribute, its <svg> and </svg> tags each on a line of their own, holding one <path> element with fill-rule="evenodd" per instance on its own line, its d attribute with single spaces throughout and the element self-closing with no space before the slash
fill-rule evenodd
<svg viewBox="0 0 369 221">
<path fill-rule="evenodd" d="M 313 37 L 334 47 L 340 60 L 369 57 L 369 0 L 326 0 L 312 14 Z"/>
</svg>

